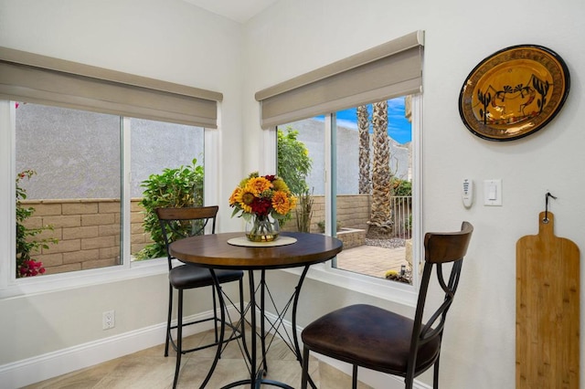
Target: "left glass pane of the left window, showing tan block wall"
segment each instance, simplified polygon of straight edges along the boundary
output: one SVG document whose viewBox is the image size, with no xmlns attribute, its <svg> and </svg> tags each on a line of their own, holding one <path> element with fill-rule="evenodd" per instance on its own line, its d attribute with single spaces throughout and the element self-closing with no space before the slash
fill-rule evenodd
<svg viewBox="0 0 585 389">
<path fill-rule="evenodd" d="M 16 103 L 16 172 L 27 192 L 28 242 L 18 276 L 42 263 L 48 274 L 120 265 L 121 137 L 117 116 Z M 18 241 L 19 237 L 17 237 Z M 26 250 L 24 250 L 26 251 Z M 23 258 L 24 259 L 24 258 Z"/>
</svg>

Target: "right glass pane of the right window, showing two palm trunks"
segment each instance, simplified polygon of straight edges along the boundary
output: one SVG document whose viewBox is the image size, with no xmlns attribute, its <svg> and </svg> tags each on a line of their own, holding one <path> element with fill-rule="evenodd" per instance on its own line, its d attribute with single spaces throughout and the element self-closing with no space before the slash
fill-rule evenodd
<svg viewBox="0 0 585 389">
<path fill-rule="evenodd" d="M 332 127 L 335 232 L 345 247 L 333 266 L 412 283 L 412 194 L 399 191 L 413 178 L 405 97 L 337 111 Z"/>
</svg>

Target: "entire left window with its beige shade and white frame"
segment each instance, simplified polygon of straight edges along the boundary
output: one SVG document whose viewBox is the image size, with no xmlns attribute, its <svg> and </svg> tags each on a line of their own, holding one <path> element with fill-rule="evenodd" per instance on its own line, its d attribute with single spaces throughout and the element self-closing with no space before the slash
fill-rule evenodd
<svg viewBox="0 0 585 389">
<path fill-rule="evenodd" d="M 0 209 L 11 216 L 0 223 L 0 295 L 63 287 L 49 280 L 54 277 L 82 284 L 81 277 L 68 277 L 76 270 L 98 282 L 127 277 L 134 254 L 149 244 L 136 241 L 147 236 L 137 205 L 142 182 L 195 160 L 203 176 L 204 139 L 217 142 L 207 130 L 217 128 L 222 98 L 0 47 L 0 179 L 13 183 L 11 195 L 0 198 Z M 15 200 L 22 200 L 24 213 L 15 212 Z M 25 229 L 15 228 L 21 218 Z M 18 240 L 22 231 L 34 237 Z M 31 256 L 40 256 L 46 274 L 63 274 L 15 280 L 16 252 L 22 252 L 15 242 L 35 239 L 42 244 L 27 246 Z M 153 266 L 133 266 L 140 272 L 133 276 L 157 273 L 163 263 L 148 262 Z"/>
</svg>

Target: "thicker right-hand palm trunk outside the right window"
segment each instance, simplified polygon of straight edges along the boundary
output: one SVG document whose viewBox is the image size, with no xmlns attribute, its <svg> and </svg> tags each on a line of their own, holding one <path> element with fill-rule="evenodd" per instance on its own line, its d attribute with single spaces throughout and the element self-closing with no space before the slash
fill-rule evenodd
<svg viewBox="0 0 585 389">
<path fill-rule="evenodd" d="M 388 138 L 388 101 L 373 104 L 374 163 L 372 172 L 372 209 L 368 237 L 388 237 L 392 232 L 390 142 Z"/>
</svg>

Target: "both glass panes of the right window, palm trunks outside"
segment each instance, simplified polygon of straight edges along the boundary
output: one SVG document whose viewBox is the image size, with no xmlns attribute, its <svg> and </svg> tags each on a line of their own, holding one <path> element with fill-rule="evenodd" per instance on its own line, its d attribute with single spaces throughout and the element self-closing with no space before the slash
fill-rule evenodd
<svg viewBox="0 0 585 389">
<path fill-rule="evenodd" d="M 278 131 L 297 131 L 313 162 L 306 177 L 314 201 L 312 232 L 344 242 L 332 267 L 411 284 L 412 231 L 419 220 L 413 215 L 412 160 L 418 155 L 406 101 L 399 97 L 294 121 Z"/>
</svg>

